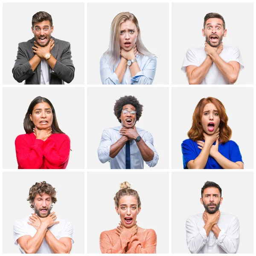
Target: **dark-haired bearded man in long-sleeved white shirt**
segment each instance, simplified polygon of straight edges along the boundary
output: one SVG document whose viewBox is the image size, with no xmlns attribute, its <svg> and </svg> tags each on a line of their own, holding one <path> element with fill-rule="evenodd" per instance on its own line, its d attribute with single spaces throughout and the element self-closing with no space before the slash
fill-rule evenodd
<svg viewBox="0 0 256 256">
<path fill-rule="evenodd" d="M 191 253 L 236 253 L 239 247 L 239 220 L 220 212 L 221 187 L 207 181 L 201 189 L 205 211 L 186 220 L 186 243 Z"/>
</svg>

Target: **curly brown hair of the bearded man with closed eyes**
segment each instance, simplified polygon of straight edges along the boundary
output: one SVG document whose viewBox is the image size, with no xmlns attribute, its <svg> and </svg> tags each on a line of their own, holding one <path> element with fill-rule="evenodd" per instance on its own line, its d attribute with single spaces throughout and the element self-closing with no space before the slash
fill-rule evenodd
<svg viewBox="0 0 256 256">
<path fill-rule="evenodd" d="M 46 181 L 36 182 L 35 185 L 33 185 L 29 189 L 29 197 L 27 198 L 27 201 L 29 201 L 30 207 L 32 209 L 34 209 L 35 196 L 36 195 L 42 196 L 43 194 L 47 194 L 52 197 L 52 204 L 55 204 L 57 202 L 56 191 L 51 184 L 46 183 Z"/>
</svg>

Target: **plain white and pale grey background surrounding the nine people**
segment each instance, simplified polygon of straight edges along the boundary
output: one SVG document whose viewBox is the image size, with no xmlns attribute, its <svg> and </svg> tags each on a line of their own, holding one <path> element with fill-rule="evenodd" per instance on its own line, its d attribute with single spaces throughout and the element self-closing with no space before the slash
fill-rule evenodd
<svg viewBox="0 0 256 256">
<path fill-rule="evenodd" d="M 25 3 L 0 0 L 3 15 L 0 19 L 3 28 L 0 33 L 0 184 L 3 187 L 0 193 L 0 254 L 18 253 L 10 229 L 17 216 L 29 215 L 26 201 L 29 188 L 43 180 L 56 188 L 58 202 L 53 210 L 73 223 L 76 237 L 73 253 L 100 254 L 101 231 L 115 228 L 119 221 L 113 196 L 119 183 L 127 180 L 131 188 L 140 193 L 142 201 L 138 225 L 143 223 L 143 227 L 153 228 L 157 233 L 157 253 L 187 255 L 190 252 L 186 247 L 185 221 L 190 215 L 204 210 L 199 202 L 201 187 L 205 181 L 212 180 L 223 190 L 221 210 L 240 216 L 241 251 L 238 253 L 256 255 L 256 53 L 253 45 L 256 41 L 256 19 L 253 18 L 256 4 L 253 0 L 247 3 L 238 0 L 226 0 L 225 3 L 202 0 L 196 3 L 192 0 L 155 2 L 77 0 L 71 3 L 55 0 L 54 3 L 35 3 L 27 0 Z M 32 38 L 31 17 L 41 10 L 52 15 L 54 36 L 71 44 L 76 80 L 70 84 L 35 86 L 18 84 L 12 78 L 10 68 L 12 70 L 15 61 L 17 44 L 27 41 L 29 36 Z M 157 55 L 156 82 L 152 85 L 101 84 L 99 59 L 108 48 L 111 20 L 114 14 L 126 11 L 138 18 L 143 43 Z M 180 71 L 186 50 L 204 44 L 200 33 L 207 12 L 223 15 L 228 31 L 224 43 L 239 46 L 244 64 L 250 66 L 245 65 L 236 84 L 189 85 Z M 244 23 L 242 18 L 250 23 Z M 9 52 L 12 52 L 11 58 L 8 58 Z M 67 169 L 17 170 L 14 140 L 10 138 L 24 134 L 26 108 L 38 95 L 49 97 L 55 106 L 60 128 L 69 136 L 73 133 L 70 167 L 68 165 Z M 95 153 L 101 136 L 99 131 L 119 125 L 113 115 L 113 105 L 116 99 L 125 95 L 137 96 L 144 105 L 138 125 L 153 134 L 160 159 L 154 168 L 144 165 L 145 169 L 140 171 L 110 170 L 109 163 L 99 163 Z M 180 144 L 187 138 L 196 103 L 208 96 L 220 99 L 227 110 L 232 139 L 242 145 L 243 160 L 247 159 L 249 163 L 245 163 L 244 170 L 183 170 Z"/>
</svg>

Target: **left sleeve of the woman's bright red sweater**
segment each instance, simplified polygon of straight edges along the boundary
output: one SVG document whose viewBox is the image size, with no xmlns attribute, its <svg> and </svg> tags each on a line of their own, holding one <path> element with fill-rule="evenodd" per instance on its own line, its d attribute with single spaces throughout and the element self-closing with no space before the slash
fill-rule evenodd
<svg viewBox="0 0 256 256">
<path fill-rule="evenodd" d="M 43 140 L 35 140 L 33 145 L 19 135 L 15 140 L 16 157 L 21 169 L 40 169 L 43 163 Z"/>
</svg>

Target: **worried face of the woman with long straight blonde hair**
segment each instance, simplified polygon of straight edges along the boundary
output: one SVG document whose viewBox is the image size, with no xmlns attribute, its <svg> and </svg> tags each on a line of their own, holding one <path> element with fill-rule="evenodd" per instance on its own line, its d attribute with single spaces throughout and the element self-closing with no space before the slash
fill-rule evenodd
<svg viewBox="0 0 256 256">
<path fill-rule="evenodd" d="M 131 20 L 126 20 L 120 24 L 119 45 L 125 51 L 134 48 L 137 40 L 138 30 Z"/>
</svg>

